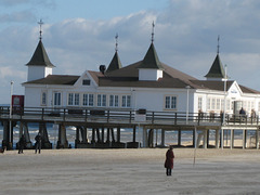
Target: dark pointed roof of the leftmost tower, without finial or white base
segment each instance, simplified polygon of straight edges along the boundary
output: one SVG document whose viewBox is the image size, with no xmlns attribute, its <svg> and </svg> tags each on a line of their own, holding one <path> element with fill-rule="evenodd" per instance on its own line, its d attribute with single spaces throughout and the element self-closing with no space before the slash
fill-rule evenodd
<svg viewBox="0 0 260 195">
<path fill-rule="evenodd" d="M 39 41 L 34 55 L 31 56 L 30 61 L 26 64 L 27 66 L 35 65 L 35 66 L 46 66 L 46 67 L 55 67 L 48 57 L 46 49 L 41 40 Z"/>
</svg>

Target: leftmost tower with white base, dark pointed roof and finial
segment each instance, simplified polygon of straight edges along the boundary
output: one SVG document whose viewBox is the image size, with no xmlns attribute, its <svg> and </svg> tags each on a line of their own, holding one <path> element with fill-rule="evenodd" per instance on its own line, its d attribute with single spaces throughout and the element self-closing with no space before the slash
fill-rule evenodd
<svg viewBox="0 0 260 195">
<path fill-rule="evenodd" d="M 48 75 L 52 75 L 52 68 L 55 67 L 49 60 L 44 46 L 41 41 L 41 26 L 43 23 L 40 21 L 38 24 L 40 25 L 40 40 L 34 55 L 26 64 L 26 66 L 28 66 L 27 81 L 44 78 Z"/>
</svg>

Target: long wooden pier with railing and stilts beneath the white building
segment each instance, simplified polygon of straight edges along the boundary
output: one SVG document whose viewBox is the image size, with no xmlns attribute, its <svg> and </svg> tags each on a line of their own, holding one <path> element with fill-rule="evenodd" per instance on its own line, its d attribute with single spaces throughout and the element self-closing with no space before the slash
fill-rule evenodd
<svg viewBox="0 0 260 195">
<path fill-rule="evenodd" d="M 80 109 L 80 108 L 35 108 L 25 107 L 13 109 L 0 107 L 0 121 L 3 126 L 2 146 L 13 150 L 13 128 L 20 123 L 20 133 L 25 135 L 26 148 L 32 148 L 28 123 L 34 122 L 39 127 L 42 135 L 42 148 L 53 148 L 49 141 L 47 123 L 53 123 L 58 136 L 54 144 L 56 148 L 69 148 L 66 129 L 76 128 L 76 148 L 136 148 L 136 147 L 164 147 L 167 131 L 177 131 L 176 146 L 182 145 L 182 132 L 192 131 L 191 147 L 236 147 L 234 135 L 242 131 L 242 148 L 259 148 L 259 118 L 246 115 L 212 115 L 202 113 L 178 112 L 151 112 L 145 109 Z M 132 138 L 128 142 L 121 142 L 121 129 L 132 130 Z M 140 131 L 142 132 L 140 133 Z M 92 132 L 88 139 L 88 131 Z M 253 136 L 248 135 L 253 131 Z M 136 133 L 139 132 L 139 133 Z M 158 132 L 160 141 L 158 144 Z M 214 134 L 214 144 L 210 144 L 209 132 Z M 136 134 L 142 134 L 136 138 Z M 248 145 L 248 140 L 252 144 Z M 18 143 L 16 143 L 18 147 Z"/>
</svg>

